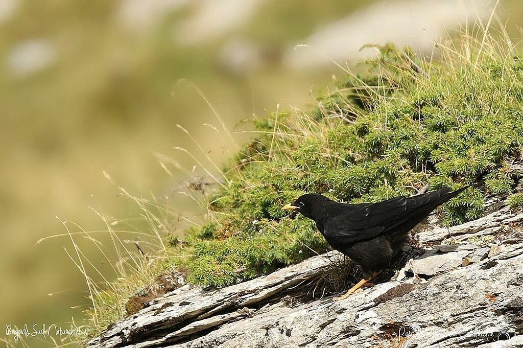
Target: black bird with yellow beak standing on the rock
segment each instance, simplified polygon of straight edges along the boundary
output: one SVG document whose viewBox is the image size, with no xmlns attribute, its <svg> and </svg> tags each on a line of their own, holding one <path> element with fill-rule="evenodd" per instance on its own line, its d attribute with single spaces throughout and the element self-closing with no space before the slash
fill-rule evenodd
<svg viewBox="0 0 523 348">
<path fill-rule="evenodd" d="M 283 207 L 314 220 L 327 242 L 356 261 L 364 278 L 335 300 L 353 294 L 381 273 L 408 240 L 408 232 L 431 211 L 460 194 L 450 188 L 379 203 L 343 204 L 319 194 L 306 194 Z"/>
</svg>

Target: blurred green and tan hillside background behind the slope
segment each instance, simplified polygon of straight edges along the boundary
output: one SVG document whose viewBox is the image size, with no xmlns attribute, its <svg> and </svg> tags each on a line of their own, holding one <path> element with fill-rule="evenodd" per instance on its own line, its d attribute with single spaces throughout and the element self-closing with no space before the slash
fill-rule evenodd
<svg viewBox="0 0 523 348">
<path fill-rule="evenodd" d="M 518 38 L 522 3 L 501 1 L 494 17 L 508 19 Z M 204 174 L 175 146 L 202 161 L 205 155 L 215 163 L 226 160 L 234 142 L 203 125 L 221 127 L 195 86 L 232 130 L 277 104 L 306 109 L 311 91 L 328 87 L 333 74 L 343 75 L 332 61 L 351 66 L 373 54 L 359 52 L 362 44 L 394 41 L 430 56 L 444 27 L 488 20 L 495 5 L 0 0 L 0 324 L 66 327 L 82 318 L 89 301 L 83 275 L 64 250 L 74 252 L 69 237 L 35 243 L 66 232 L 55 216 L 103 230 L 92 207 L 129 228 L 147 229 L 103 171 L 132 194 L 163 197 L 184 178 Z M 297 44 L 308 47 L 295 49 Z M 238 134 L 236 141 L 247 136 Z M 175 158 L 186 170 L 168 175 L 158 156 Z M 177 196 L 174 205 L 197 211 Z M 109 240 L 102 232 L 96 237 L 102 244 Z M 81 235 L 76 242 L 86 255 L 96 249 Z M 109 265 L 91 261 L 114 277 Z"/>
</svg>

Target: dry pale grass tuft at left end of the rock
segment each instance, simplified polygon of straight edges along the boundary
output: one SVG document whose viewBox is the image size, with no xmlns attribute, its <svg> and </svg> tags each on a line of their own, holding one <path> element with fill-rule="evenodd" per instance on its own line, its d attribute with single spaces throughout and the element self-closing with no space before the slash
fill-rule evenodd
<svg viewBox="0 0 523 348">
<path fill-rule="evenodd" d="M 111 177 L 104 173 L 112 182 Z M 197 181 L 197 186 L 202 186 L 202 181 Z M 194 181 L 185 183 L 187 186 L 195 185 Z M 206 186 L 206 185 L 203 185 Z M 87 340 L 108 328 L 110 324 L 127 316 L 126 304 L 135 295 L 143 295 L 145 289 L 155 286 L 158 276 L 172 271 L 184 274 L 186 272 L 184 259 L 190 257 L 184 241 L 178 237 L 180 224 L 185 226 L 201 227 L 195 220 L 183 217 L 179 210 L 170 206 L 168 199 L 161 201 L 156 197 L 146 199 L 130 194 L 126 189 L 118 187 L 120 194 L 138 206 L 142 214 L 132 221 L 110 218 L 103 212 L 92 210 L 106 224 L 106 230 L 85 231 L 77 224 L 62 221 L 66 233 L 43 238 L 43 240 L 69 237 L 73 252 L 64 247 L 65 252 L 76 265 L 85 278 L 88 288 L 88 298 L 93 307 L 85 310 L 86 319 L 78 325 L 87 331 L 87 336 L 72 336 L 73 343 L 86 345 Z M 134 223 L 132 223 L 134 222 Z M 138 225 L 135 225 L 139 222 Z M 76 229 L 76 230 L 73 230 Z M 143 232 L 143 231 L 147 232 Z M 110 258 L 104 243 L 95 239 L 94 235 L 104 232 L 106 239 L 109 237 L 112 248 L 115 250 L 117 260 Z M 79 248 L 76 239 L 84 237 L 93 242 L 99 251 L 99 259 L 86 255 Z M 99 265 L 107 263 L 112 267 L 112 274 L 103 274 Z M 75 324 L 76 325 L 76 324 Z"/>
</svg>

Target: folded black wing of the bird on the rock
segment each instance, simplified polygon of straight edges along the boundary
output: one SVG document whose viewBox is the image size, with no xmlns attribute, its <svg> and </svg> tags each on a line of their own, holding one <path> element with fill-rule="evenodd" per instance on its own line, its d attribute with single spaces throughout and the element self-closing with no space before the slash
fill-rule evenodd
<svg viewBox="0 0 523 348">
<path fill-rule="evenodd" d="M 324 222 L 325 238 L 350 244 L 389 231 L 408 232 L 431 211 L 467 187 L 450 192 L 442 188 L 412 197 L 395 197 L 373 204 L 347 204 Z"/>
</svg>

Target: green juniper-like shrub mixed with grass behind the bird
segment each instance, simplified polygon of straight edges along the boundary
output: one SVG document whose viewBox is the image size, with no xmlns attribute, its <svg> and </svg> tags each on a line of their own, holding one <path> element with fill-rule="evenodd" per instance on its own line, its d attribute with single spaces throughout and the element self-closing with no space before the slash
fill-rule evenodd
<svg viewBox="0 0 523 348">
<path fill-rule="evenodd" d="M 221 169 L 219 187 L 195 198 L 206 223 L 164 243 L 164 251 L 189 256 L 166 264 L 185 267 L 190 283 L 221 287 L 323 253 L 329 248 L 314 223 L 281 210 L 310 192 L 357 203 L 414 195 L 425 185 L 472 185 L 445 205 L 442 219 L 481 217 L 486 194 L 513 192 L 510 163 L 523 153 L 523 58 L 485 30 L 439 43 L 437 61 L 374 46 L 378 57 L 358 74 L 346 71 L 309 113 L 277 108 L 252 119 L 254 139 Z M 93 333 L 123 315 L 123 293 L 95 298 L 106 320 Z"/>
</svg>

